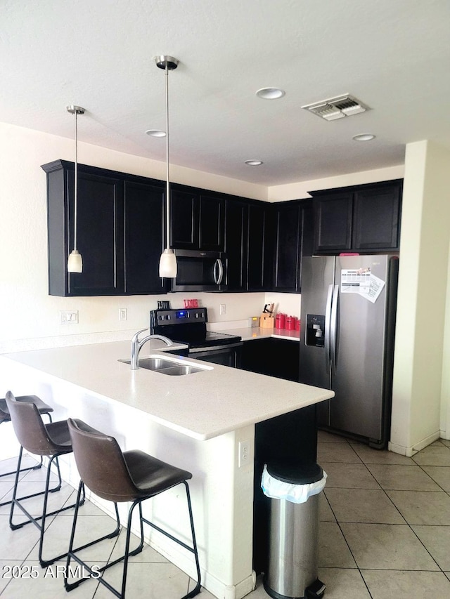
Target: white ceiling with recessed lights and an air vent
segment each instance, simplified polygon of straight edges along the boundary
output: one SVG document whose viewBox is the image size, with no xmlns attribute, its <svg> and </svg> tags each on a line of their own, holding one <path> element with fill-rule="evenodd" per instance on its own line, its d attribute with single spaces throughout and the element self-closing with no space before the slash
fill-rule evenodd
<svg viewBox="0 0 450 599">
<path fill-rule="evenodd" d="M 80 141 L 165 161 L 145 131 L 165 129 L 167 54 L 173 164 L 269 186 L 450 148 L 449 0 L 0 0 L 0 22 L 6 123 L 73 138 L 80 105 Z M 285 96 L 255 95 L 268 86 Z M 302 110 L 344 93 L 371 110 Z"/>
</svg>

